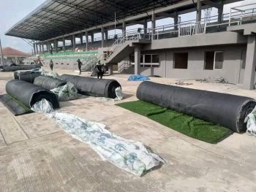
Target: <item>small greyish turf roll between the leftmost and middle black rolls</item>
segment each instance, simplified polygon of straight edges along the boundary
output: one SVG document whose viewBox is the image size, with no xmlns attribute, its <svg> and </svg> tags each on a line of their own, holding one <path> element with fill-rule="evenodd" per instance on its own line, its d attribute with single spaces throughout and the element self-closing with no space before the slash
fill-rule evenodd
<svg viewBox="0 0 256 192">
<path fill-rule="evenodd" d="M 34 79 L 34 85 L 39 85 L 42 88 L 53 89 L 59 86 L 66 85 L 67 82 L 48 76 L 39 76 Z"/>
</svg>

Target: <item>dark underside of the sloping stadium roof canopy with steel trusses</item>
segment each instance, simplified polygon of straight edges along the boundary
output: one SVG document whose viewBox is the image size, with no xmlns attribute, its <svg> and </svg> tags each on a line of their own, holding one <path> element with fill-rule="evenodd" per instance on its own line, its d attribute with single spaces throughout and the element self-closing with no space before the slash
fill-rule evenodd
<svg viewBox="0 0 256 192">
<path fill-rule="evenodd" d="M 102 23 L 138 15 L 181 0 L 48 0 L 20 20 L 6 35 L 45 40 Z"/>
</svg>

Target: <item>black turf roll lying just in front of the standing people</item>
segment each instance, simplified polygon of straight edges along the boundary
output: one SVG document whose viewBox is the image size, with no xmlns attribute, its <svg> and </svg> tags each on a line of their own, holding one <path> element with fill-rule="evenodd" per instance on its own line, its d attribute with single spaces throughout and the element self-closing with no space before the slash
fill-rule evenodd
<svg viewBox="0 0 256 192">
<path fill-rule="evenodd" d="M 121 87 L 116 80 L 100 80 L 92 77 L 80 77 L 69 74 L 62 74 L 58 78 L 72 82 L 81 94 L 92 94 L 94 96 L 103 96 L 113 99 L 116 98 L 116 88 Z"/>
</svg>

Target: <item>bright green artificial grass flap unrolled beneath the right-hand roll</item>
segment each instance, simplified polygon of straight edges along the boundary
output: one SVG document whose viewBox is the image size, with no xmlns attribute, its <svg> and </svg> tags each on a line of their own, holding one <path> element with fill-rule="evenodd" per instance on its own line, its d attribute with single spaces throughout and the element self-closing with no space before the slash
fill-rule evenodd
<svg viewBox="0 0 256 192">
<path fill-rule="evenodd" d="M 173 128 L 182 134 L 204 142 L 217 143 L 230 136 L 230 134 L 233 134 L 233 131 L 228 128 L 214 125 L 213 123 L 185 115 L 181 112 L 150 104 L 146 101 L 130 101 L 116 105 L 146 116 L 168 128 Z"/>
</svg>

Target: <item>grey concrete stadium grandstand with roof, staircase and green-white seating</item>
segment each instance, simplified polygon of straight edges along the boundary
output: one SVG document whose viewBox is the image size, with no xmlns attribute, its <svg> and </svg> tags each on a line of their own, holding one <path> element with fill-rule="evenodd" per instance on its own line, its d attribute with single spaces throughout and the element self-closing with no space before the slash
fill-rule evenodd
<svg viewBox="0 0 256 192">
<path fill-rule="evenodd" d="M 34 47 L 29 59 L 53 59 L 58 67 L 74 69 L 80 58 L 84 70 L 101 61 L 110 72 L 224 77 L 252 89 L 256 3 L 223 12 L 225 5 L 236 1 L 48 0 L 6 35 L 23 38 Z M 209 14 L 211 9 L 217 9 L 217 14 Z M 180 19 L 189 12 L 195 12 L 195 18 Z M 173 23 L 156 25 L 165 18 Z M 134 25 L 139 27 L 129 29 Z"/>
</svg>

